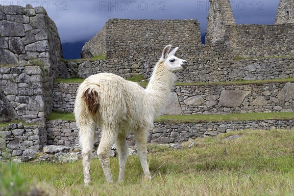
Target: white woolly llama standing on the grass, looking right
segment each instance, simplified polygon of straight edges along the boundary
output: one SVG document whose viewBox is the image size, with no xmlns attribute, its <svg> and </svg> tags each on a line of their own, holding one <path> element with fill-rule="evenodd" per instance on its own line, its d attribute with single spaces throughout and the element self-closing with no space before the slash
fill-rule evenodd
<svg viewBox="0 0 294 196">
<path fill-rule="evenodd" d="M 119 181 L 123 181 L 128 153 L 126 136 L 129 133 L 135 135 L 144 177 L 151 179 L 147 163 L 148 130 L 152 129 L 154 118 L 165 105 L 175 79 L 173 72 L 188 64 L 186 60 L 174 56 L 178 48 L 168 54 L 171 47 L 164 48 L 146 89 L 110 73 L 92 75 L 78 87 L 74 114 L 79 127 L 86 185 L 90 183 L 96 125 L 102 129 L 97 154 L 107 182 L 112 182 L 109 150 L 114 142 L 120 162 Z"/>
</svg>

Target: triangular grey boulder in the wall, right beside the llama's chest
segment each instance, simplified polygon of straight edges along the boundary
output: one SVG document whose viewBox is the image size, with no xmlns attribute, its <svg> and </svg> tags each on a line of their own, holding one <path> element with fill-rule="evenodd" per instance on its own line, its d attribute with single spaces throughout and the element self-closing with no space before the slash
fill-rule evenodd
<svg viewBox="0 0 294 196">
<path fill-rule="evenodd" d="M 161 111 L 162 115 L 178 115 L 182 113 L 182 109 L 175 92 L 171 92 L 167 100 L 167 105 Z"/>
</svg>

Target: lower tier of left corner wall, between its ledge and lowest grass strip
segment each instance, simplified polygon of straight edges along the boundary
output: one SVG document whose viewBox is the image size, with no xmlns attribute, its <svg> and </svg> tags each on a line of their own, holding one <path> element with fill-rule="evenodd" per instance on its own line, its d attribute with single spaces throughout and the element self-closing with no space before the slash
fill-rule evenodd
<svg viewBox="0 0 294 196">
<path fill-rule="evenodd" d="M 0 68 L 0 88 L 17 115 L 27 122 L 45 122 L 52 99 L 48 92 L 48 70 L 41 66 Z"/>
</svg>

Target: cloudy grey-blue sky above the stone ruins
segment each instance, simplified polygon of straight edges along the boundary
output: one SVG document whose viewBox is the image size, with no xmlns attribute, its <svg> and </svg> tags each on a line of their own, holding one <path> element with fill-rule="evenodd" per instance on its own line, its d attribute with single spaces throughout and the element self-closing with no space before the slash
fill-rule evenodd
<svg viewBox="0 0 294 196">
<path fill-rule="evenodd" d="M 230 0 L 237 24 L 274 24 L 279 0 Z M 197 19 L 206 30 L 209 0 L 0 0 L 1 5 L 43 6 L 55 22 L 65 59 L 79 58 L 81 47 L 110 18 Z"/>
</svg>

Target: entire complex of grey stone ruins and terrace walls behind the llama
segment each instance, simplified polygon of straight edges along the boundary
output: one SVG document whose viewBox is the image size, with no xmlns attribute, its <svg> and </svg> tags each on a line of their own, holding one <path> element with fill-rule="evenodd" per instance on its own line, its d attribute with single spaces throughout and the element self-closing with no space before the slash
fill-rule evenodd
<svg viewBox="0 0 294 196">
<path fill-rule="evenodd" d="M 45 145 L 75 146 L 75 122 L 46 120 L 51 111 L 72 112 L 78 83 L 57 77 L 86 78 L 111 72 L 146 80 L 167 44 L 189 67 L 162 114 L 292 112 L 294 83 L 213 84 L 237 80 L 294 78 L 293 1 L 280 0 L 275 25 L 236 25 L 229 0 L 210 0 L 206 45 L 196 20 L 110 19 L 82 50 L 83 57 L 107 59 L 60 62 L 57 28 L 42 7 L 0 6 L 0 120 L 24 120 L 0 127 L 0 157 L 26 156 Z M 273 57 L 275 56 L 275 57 Z M 251 57 L 251 58 L 242 58 Z M 254 58 L 258 57 L 258 58 Z M 232 130 L 293 128 L 293 120 L 256 120 L 170 124 L 158 122 L 149 142 L 179 143 Z M 97 135 L 99 130 L 97 129 Z M 134 145 L 134 137 L 127 137 Z M 97 146 L 99 137 L 95 141 Z"/>
</svg>

